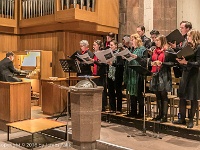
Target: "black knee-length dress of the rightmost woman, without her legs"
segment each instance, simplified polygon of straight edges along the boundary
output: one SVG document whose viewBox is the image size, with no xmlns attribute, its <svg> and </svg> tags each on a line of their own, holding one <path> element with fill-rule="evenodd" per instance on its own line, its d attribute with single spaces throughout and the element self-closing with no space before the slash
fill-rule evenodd
<svg viewBox="0 0 200 150">
<path fill-rule="evenodd" d="M 183 74 L 179 86 L 179 97 L 186 100 L 200 99 L 200 45 L 187 65 L 182 65 Z"/>
</svg>

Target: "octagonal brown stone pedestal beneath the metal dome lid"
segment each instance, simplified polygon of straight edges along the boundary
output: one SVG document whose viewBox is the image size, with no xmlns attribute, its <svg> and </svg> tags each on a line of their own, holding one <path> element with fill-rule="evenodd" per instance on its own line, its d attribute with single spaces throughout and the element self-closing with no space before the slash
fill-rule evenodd
<svg viewBox="0 0 200 150">
<path fill-rule="evenodd" d="M 92 150 L 100 139 L 103 87 L 70 88 L 73 144 L 80 150 Z"/>
</svg>

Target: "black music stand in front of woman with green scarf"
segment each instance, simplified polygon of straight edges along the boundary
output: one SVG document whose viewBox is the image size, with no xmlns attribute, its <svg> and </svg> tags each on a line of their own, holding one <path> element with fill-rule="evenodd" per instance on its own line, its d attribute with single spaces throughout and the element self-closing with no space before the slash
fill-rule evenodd
<svg viewBox="0 0 200 150">
<path fill-rule="evenodd" d="M 146 133 L 146 125 L 145 125 L 145 92 L 146 92 L 146 90 L 145 90 L 145 88 L 146 88 L 146 76 L 150 76 L 150 75 L 152 75 L 152 73 L 148 70 L 148 69 L 146 69 L 146 68 L 144 68 L 144 67 L 142 67 L 142 66 L 140 66 L 140 65 L 130 65 L 129 66 L 131 69 L 133 69 L 134 71 L 136 71 L 138 74 L 140 74 L 140 75 L 142 75 L 143 76 L 143 78 L 144 78 L 144 92 L 143 92 L 143 100 L 144 100 L 144 120 L 143 120 L 143 134 L 145 134 Z"/>
</svg>

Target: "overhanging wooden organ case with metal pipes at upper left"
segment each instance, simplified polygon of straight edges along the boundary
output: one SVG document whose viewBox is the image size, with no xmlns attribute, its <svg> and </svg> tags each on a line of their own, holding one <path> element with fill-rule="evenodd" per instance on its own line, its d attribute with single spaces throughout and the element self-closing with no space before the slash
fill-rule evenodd
<svg viewBox="0 0 200 150">
<path fill-rule="evenodd" d="M 27 34 L 76 30 L 117 33 L 118 1 L 109 1 L 110 9 L 107 9 L 108 0 L 0 0 L 0 32 Z"/>
</svg>

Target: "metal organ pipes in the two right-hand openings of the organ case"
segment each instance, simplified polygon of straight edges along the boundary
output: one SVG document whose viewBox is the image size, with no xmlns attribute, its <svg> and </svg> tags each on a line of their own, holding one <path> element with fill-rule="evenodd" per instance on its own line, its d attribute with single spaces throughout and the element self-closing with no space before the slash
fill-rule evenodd
<svg viewBox="0 0 200 150">
<path fill-rule="evenodd" d="M 95 1 L 96 0 L 22 0 L 22 19 L 55 14 L 55 4 L 59 6 L 57 11 L 79 8 L 94 12 Z"/>
</svg>

